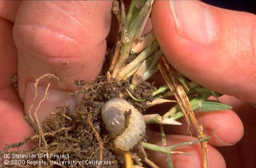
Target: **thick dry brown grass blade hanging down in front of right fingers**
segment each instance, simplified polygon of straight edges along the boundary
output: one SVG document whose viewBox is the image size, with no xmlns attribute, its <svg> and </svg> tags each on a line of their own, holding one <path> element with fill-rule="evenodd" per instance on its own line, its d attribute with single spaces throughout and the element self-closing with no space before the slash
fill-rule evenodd
<svg viewBox="0 0 256 168">
<path fill-rule="evenodd" d="M 163 57 L 163 62 L 158 64 L 158 67 L 167 85 L 169 86 L 170 90 L 174 92 L 174 96 L 177 99 L 178 104 L 184 114 L 185 120 L 188 123 L 189 131 L 192 123 L 193 127 L 197 131 L 198 139 L 206 138 L 206 135 L 203 133 L 202 126 L 198 124 L 197 119 L 194 116 L 194 113 L 190 106 L 190 102 L 186 95 L 186 92 L 176 78 L 175 69 L 169 66 L 165 57 Z M 202 149 L 202 167 L 207 168 L 208 167 L 207 141 L 201 142 L 201 149 Z"/>
</svg>

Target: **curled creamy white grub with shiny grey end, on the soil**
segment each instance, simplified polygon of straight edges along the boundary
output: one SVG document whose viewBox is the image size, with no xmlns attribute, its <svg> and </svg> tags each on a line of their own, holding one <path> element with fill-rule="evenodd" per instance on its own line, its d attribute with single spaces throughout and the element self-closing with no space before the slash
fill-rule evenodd
<svg viewBox="0 0 256 168">
<path fill-rule="evenodd" d="M 125 124 L 126 111 L 131 114 Z M 145 133 L 146 124 L 140 112 L 124 99 L 110 99 L 101 109 L 101 118 L 108 131 L 118 137 L 114 145 L 123 151 L 129 151 L 141 139 Z M 127 127 L 125 128 L 125 125 Z M 125 129 L 124 132 L 122 132 Z"/>
</svg>

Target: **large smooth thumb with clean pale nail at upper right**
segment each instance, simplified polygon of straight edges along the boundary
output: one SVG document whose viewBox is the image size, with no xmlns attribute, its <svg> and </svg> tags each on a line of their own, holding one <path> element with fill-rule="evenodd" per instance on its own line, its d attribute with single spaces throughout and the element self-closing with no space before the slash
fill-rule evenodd
<svg viewBox="0 0 256 168">
<path fill-rule="evenodd" d="M 256 17 L 199 1 L 157 1 L 152 26 L 170 64 L 204 87 L 256 102 Z"/>
</svg>

